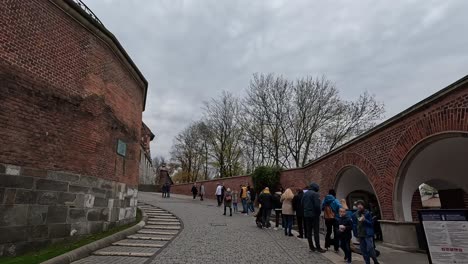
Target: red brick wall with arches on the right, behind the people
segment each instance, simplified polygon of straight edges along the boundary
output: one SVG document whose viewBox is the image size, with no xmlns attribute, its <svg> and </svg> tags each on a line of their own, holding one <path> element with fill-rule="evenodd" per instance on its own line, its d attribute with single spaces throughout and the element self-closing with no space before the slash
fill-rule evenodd
<svg viewBox="0 0 468 264">
<path fill-rule="evenodd" d="M 395 219 L 394 191 L 398 174 L 407 157 L 422 143 L 450 133 L 468 133 L 468 82 L 439 96 L 431 103 L 412 110 L 377 132 L 331 153 L 308 166 L 285 170 L 281 174 L 283 187 L 303 188 L 310 182 L 321 187 L 322 198 L 328 189 L 335 188 L 341 173 L 349 166 L 361 169 L 369 178 L 378 197 L 383 219 Z M 238 186 L 248 176 L 216 179 L 205 182 L 208 196 L 214 194 L 217 182 Z M 190 194 L 192 184 L 179 184 L 171 191 Z M 398 205 L 395 205 L 398 206 Z"/>
</svg>

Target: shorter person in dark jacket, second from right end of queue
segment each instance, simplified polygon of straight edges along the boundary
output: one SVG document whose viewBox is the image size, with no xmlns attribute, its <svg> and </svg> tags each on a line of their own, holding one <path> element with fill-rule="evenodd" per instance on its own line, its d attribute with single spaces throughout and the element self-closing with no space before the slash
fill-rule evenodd
<svg viewBox="0 0 468 264">
<path fill-rule="evenodd" d="M 339 216 L 336 218 L 337 240 L 345 254 L 346 263 L 351 263 L 351 231 L 353 230 L 353 220 L 348 216 L 345 208 L 339 209 Z"/>
</svg>

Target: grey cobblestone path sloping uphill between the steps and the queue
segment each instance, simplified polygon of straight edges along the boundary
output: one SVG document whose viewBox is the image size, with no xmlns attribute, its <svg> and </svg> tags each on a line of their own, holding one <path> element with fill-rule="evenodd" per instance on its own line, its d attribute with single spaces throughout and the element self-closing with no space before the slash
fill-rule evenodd
<svg viewBox="0 0 468 264">
<path fill-rule="evenodd" d="M 184 224 L 150 263 L 331 263 L 295 237 L 257 228 L 252 216 L 223 216 L 212 200 L 162 199 L 160 194 L 142 192 L 139 200 L 173 212 Z"/>
</svg>

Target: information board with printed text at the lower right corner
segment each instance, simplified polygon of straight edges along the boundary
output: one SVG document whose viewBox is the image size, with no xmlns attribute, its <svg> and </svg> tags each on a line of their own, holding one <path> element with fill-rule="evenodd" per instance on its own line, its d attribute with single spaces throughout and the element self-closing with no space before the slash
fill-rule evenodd
<svg viewBox="0 0 468 264">
<path fill-rule="evenodd" d="M 468 263 L 468 209 L 419 210 L 431 264 Z"/>
</svg>

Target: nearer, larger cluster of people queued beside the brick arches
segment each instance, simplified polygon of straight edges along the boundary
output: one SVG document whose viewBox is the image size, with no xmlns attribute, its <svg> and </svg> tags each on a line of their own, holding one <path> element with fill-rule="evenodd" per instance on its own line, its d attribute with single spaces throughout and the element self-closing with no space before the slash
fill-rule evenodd
<svg viewBox="0 0 468 264">
<path fill-rule="evenodd" d="M 274 209 L 275 195 L 266 187 L 259 195 L 260 210 L 257 215 L 257 225 L 270 228 L 270 216 Z M 346 200 L 339 201 L 334 190 L 330 190 L 323 202 L 320 201 L 319 186 L 310 184 L 306 190 L 298 189 L 296 194 L 291 189 L 281 193 L 282 221 L 284 234 L 293 236 L 292 226 L 296 216 L 299 229 L 299 238 L 307 238 L 309 248 L 313 252 L 326 252 L 333 246 L 335 252 L 341 248 L 346 263 L 352 261 L 351 239 L 354 236 L 359 240 L 360 251 L 366 264 L 379 263 L 374 244 L 374 218 L 365 209 L 362 200 L 355 202 L 354 210 L 349 210 Z M 327 233 L 325 236 L 325 249 L 320 245 L 320 215 L 324 215 Z M 333 234 L 333 237 L 332 237 Z"/>
</svg>

